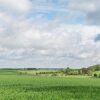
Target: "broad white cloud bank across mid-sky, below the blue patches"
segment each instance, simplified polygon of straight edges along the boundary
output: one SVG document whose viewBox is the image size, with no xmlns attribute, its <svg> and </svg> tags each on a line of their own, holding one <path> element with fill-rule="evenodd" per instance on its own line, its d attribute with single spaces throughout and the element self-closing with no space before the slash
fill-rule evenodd
<svg viewBox="0 0 100 100">
<path fill-rule="evenodd" d="M 24 20 L 16 23 L 12 28 L 12 35 L 1 35 L 2 59 L 33 59 L 36 61 L 48 61 L 50 58 L 76 58 L 83 60 L 95 60 L 99 56 L 99 44 L 94 42 L 100 32 L 97 26 L 83 25 L 48 25 L 30 24 Z M 41 28 L 40 28 L 41 26 Z M 50 28 L 50 29 L 49 29 Z M 42 60 L 39 60 L 42 57 Z M 91 59 L 91 58 L 95 59 Z M 45 59 L 48 58 L 48 59 Z M 68 59 L 67 58 L 67 59 Z M 52 60 L 51 60 L 52 61 Z M 48 61 L 49 62 L 49 61 Z M 50 62 L 49 62 L 50 63 Z M 53 62 L 54 63 L 54 62 Z M 52 65 L 51 65 L 52 66 Z"/>
</svg>

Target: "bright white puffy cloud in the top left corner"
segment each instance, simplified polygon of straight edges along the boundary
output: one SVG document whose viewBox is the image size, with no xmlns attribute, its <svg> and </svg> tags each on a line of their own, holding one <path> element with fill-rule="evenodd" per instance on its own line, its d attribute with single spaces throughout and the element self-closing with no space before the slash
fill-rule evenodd
<svg viewBox="0 0 100 100">
<path fill-rule="evenodd" d="M 0 0 L 1 10 L 26 12 L 31 9 L 29 0 Z"/>
</svg>

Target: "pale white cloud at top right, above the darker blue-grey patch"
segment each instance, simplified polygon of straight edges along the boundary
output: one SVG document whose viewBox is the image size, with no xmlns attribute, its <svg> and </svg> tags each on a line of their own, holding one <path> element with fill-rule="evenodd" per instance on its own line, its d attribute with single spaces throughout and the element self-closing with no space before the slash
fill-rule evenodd
<svg viewBox="0 0 100 100">
<path fill-rule="evenodd" d="M 83 12 L 94 12 L 100 9 L 99 0 L 69 0 L 69 8 Z"/>
</svg>

